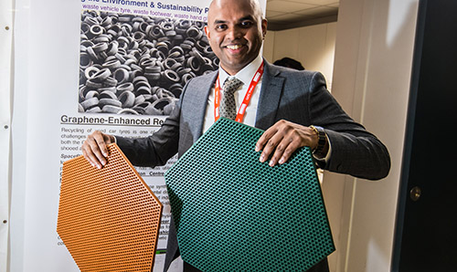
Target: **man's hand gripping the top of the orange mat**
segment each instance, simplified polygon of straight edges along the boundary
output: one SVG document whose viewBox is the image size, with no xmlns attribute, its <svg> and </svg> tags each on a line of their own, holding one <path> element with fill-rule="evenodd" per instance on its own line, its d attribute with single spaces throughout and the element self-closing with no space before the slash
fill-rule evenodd
<svg viewBox="0 0 457 272">
<path fill-rule="evenodd" d="M 94 131 L 82 143 L 82 154 L 93 167 L 101 169 L 107 162 L 108 148 L 106 146 L 112 142 L 114 142 L 114 136 Z"/>
</svg>

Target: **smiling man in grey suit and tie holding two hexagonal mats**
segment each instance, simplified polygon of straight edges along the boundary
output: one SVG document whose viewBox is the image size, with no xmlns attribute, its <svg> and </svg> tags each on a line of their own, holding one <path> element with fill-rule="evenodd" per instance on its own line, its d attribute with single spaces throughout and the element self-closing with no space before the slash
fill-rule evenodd
<svg viewBox="0 0 457 272">
<path fill-rule="evenodd" d="M 386 147 L 345 114 L 320 73 L 279 68 L 262 60 L 260 47 L 266 31 L 267 21 L 257 0 L 214 0 L 205 32 L 220 59 L 218 71 L 190 80 L 175 110 L 150 137 L 126 139 L 92 133 L 82 146 L 86 159 L 101 168 L 108 155 L 106 144 L 117 141 L 135 165 L 165 164 L 176 152 L 178 156 L 186 152 L 219 114 L 226 114 L 218 110 L 225 99 L 225 95 L 218 99 L 219 89 L 220 93 L 237 89 L 234 98 L 239 109 L 253 84 L 246 111 L 237 119 L 266 130 L 255 147 L 261 151 L 260 162 L 274 167 L 287 162 L 298 148 L 309 146 L 323 169 L 366 179 L 385 177 L 390 168 Z M 255 83 L 253 78 L 262 69 Z M 242 81 L 241 86 L 223 86 L 233 76 Z M 165 271 L 176 256 L 175 227 L 170 225 Z M 197 271 L 186 263 L 185 270 Z M 328 271 L 326 259 L 309 271 Z"/>
</svg>

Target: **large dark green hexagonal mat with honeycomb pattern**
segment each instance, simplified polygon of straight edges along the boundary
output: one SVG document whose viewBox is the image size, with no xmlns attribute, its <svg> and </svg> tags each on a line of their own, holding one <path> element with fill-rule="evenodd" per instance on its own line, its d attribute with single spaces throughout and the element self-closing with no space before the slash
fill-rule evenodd
<svg viewBox="0 0 457 272">
<path fill-rule="evenodd" d="M 309 149 L 270 167 L 262 132 L 219 119 L 165 173 L 181 256 L 202 271 L 306 271 L 335 251 Z"/>
</svg>

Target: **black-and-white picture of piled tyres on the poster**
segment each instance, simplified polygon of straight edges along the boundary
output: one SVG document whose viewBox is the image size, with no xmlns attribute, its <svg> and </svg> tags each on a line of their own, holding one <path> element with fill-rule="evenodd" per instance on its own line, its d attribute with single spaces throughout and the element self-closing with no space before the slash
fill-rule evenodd
<svg viewBox="0 0 457 272">
<path fill-rule="evenodd" d="M 80 112 L 168 115 L 218 68 L 200 21 L 83 11 L 80 26 Z"/>
</svg>

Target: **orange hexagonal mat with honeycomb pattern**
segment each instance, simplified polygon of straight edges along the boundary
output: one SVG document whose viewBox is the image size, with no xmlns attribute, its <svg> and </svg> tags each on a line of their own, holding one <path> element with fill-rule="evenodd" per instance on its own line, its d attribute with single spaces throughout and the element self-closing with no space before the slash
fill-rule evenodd
<svg viewBox="0 0 457 272">
<path fill-rule="evenodd" d="M 152 271 L 162 204 L 116 144 L 101 169 L 63 163 L 58 235 L 81 271 Z"/>
</svg>

